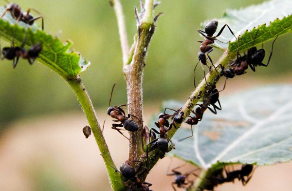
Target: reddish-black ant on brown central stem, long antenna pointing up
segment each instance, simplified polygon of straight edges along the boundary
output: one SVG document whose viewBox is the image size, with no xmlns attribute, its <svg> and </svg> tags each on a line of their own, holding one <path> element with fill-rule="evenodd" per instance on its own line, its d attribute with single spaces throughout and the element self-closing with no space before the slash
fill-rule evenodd
<svg viewBox="0 0 292 191">
<path fill-rule="evenodd" d="M 112 93 L 113 93 L 115 85 L 116 85 L 116 83 L 113 84 L 112 89 L 111 89 L 110 101 L 111 101 L 111 97 L 112 97 Z M 110 107 L 108 108 L 108 115 L 110 115 L 112 118 L 116 119 L 113 121 L 114 122 L 121 122 L 120 124 L 116 124 L 116 123 L 111 124 L 112 125 L 111 129 L 117 130 L 124 137 L 126 137 L 126 136 L 121 132 L 122 129 L 119 129 L 117 127 L 124 127 L 127 131 L 130 131 L 130 132 L 136 132 L 139 130 L 139 126 L 137 125 L 137 123 L 135 123 L 133 120 L 129 119 L 131 116 L 133 116 L 133 117 L 136 117 L 136 116 L 131 115 L 131 114 L 128 114 L 128 116 L 126 116 L 125 111 L 121 108 L 121 107 L 127 106 L 127 105 L 128 104 L 112 107 L 112 106 L 110 106 L 110 103 L 109 103 Z M 138 117 L 136 117 L 136 118 L 138 119 Z M 138 120 L 140 120 L 140 119 L 138 119 Z M 105 121 L 103 124 L 102 131 L 104 130 Z M 128 139 L 128 137 L 126 137 L 126 138 Z"/>
</svg>

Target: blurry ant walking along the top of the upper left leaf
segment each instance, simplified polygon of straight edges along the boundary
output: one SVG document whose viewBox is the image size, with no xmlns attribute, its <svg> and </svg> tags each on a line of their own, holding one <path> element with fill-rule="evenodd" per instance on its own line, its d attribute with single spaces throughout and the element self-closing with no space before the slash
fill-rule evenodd
<svg viewBox="0 0 292 191">
<path fill-rule="evenodd" d="M 26 13 L 23 13 L 21 11 L 21 8 L 18 4 L 16 3 L 10 3 L 8 0 L 5 0 L 8 5 L 7 5 L 7 8 L 5 9 L 4 13 L 2 14 L 1 18 L 4 17 L 4 15 L 9 11 L 12 18 L 13 19 L 16 19 L 17 22 L 19 21 L 22 21 L 28 25 L 33 25 L 34 24 L 34 21 L 37 20 L 37 19 L 40 19 L 41 18 L 41 29 L 44 30 L 44 19 L 42 16 L 37 16 L 37 17 L 33 17 L 32 15 L 30 15 L 30 11 L 33 10 L 35 11 L 37 14 L 40 15 L 40 13 L 34 9 L 34 8 L 29 8 Z"/>
</svg>

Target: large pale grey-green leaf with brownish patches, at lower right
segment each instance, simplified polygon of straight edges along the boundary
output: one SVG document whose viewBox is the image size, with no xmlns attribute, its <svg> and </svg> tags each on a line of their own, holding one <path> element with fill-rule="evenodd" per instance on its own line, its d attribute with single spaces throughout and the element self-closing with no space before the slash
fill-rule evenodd
<svg viewBox="0 0 292 191">
<path fill-rule="evenodd" d="M 272 165 L 292 160 L 292 86 L 271 86 L 220 98 L 222 111 L 209 110 L 202 121 L 172 138 L 171 151 L 183 160 L 202 168 L 219 162 Z M 182 103 L 166 103 L 177 108 Z"/>
</svg>

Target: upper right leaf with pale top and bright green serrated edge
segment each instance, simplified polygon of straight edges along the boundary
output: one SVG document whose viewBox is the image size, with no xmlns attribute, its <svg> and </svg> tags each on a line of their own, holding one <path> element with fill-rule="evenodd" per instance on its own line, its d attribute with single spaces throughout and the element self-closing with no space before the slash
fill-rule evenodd
<svg viewBox="0 0 292 191">
<path fill-rule="evenodd" d="M 202 23 L 202 28 L 207 22 Z M 228 24 L 236 37 L 240 35 L 239 51 L 243 52 L 253 46 L 257 30 L 255 45 L 292 31 L 292 1 L 271 0 L 239 10 L 227 10 L 218 22 L 217 33 L 224 24 Z M 224 44 L 216 40 L 215 47 L 237 52 L 238 41 L 227 27 L 218 39 L 231 43 Z"/>
</svg>

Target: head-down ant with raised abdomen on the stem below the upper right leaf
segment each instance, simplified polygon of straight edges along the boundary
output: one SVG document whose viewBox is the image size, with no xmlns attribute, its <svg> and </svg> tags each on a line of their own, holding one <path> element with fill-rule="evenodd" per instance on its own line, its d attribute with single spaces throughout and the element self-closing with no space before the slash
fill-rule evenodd
<svg viewBox="0 0 292 191">
<path fill-rule="evenodd" d="M 217 39 L 217 37 L 219 37 L 221 35 L 221 33 L 223 32 L 224 28 L 225 27 L 228 27 L 229 31 L 231 32 L 231 34 L 235 37 L 233 31 L 230 29 L 230 27 L 225 24 L 219 31 L 219 33 L 217 34 L 217 36 L 213 37 L 214 33 L 216 32 L 217 30 L 217 27 L 218 27 L 218 21 L 217 20 L 211 20 L 210 22 L 208 22 L 205 26 L 205 31 L 202 31 L 202 30 L 199 30 L 198 29 L 198 32 L 204 37 L 206 38 L 204 41 L 201 41 L 201 40 L 198 40 L 198 42 L 201 42 L 201 46 L 200 46 L 200 52 L 198 53 L 198 57 L 199 57 L 199 62 L 201 63 L 201 67 L 203 69 L 203 72 L 204 72 L 204 76 L 205 76 L 205 70 L 202 66 L 205 65 L 205 66 L 208 66 L 207 65 L 207 59 L 206 59 L 206 55 L 207 54 L 207 57 L 209 58 L 212 66 L 215 68 L 216 72 L 217 72 L 217 67 L 214 66 L 213 64 L 213 61 L 211 59 L 211 57 L 209 56 L 209 53 L 211 53 L 214 48 L 213 46 L 210 46 L 209 44 L 213 44 L 215 42 L 215 40 L 218 40 L 220 41 L 219 39 Z M 205 35 L 206 34 L 206 35 Z M 235 37 L 236 38 L 236 37 Z M 237 38 L 236 38 L 237 39 Z M 220 41 L 222 42 L 222 41 Z M 224 43 L 224 42 L 222 42 Z M 196 64 L 195 66 L 195 69 L 194 69 L 194 74 L 196 75 L 196 68 L 199 64 L 199 62 Z M 208 66 L 209 67 L 209 66 Z M 209 67 L 210 69 L 211 67 Z M 194 79 L 194 85 L 196 87 L 196 81 Z"/>
</svg>

